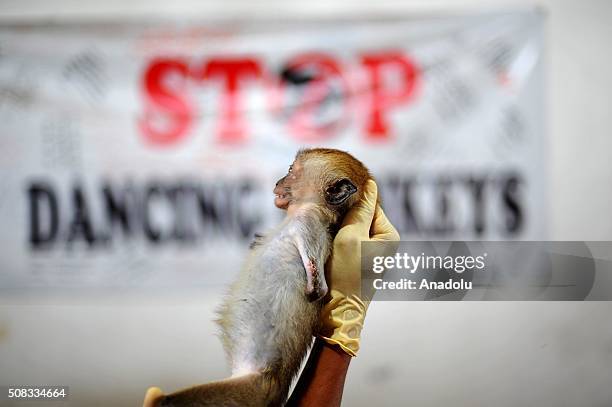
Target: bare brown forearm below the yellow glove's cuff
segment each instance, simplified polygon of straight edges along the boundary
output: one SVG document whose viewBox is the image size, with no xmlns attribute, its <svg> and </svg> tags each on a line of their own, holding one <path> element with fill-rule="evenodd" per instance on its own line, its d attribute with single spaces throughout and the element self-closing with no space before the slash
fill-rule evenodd
<svg viewBox="0 0 612 407">
<path fill-rule="evenodd" d="M 289 398 L 289 407 L 339 407 L 351 357 L 317 338 Z"/>
</svg>

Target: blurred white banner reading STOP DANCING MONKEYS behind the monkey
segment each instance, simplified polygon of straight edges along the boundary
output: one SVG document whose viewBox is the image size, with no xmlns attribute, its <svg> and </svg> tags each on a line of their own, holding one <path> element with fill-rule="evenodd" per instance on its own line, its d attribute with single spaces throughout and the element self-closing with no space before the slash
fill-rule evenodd
<svg viewBox="0 0 612 407">
<path fill-rule="evenodd" d="M 536 12 L 0 27 L 0 287 L 206 287 L 296 151 L 370 167 L 404 239 L 543 239 Z"/>
</svg>

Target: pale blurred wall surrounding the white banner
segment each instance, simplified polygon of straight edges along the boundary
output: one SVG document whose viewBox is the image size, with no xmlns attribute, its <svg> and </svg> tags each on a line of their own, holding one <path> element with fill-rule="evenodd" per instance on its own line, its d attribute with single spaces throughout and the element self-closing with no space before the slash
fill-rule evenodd
<svg viewBox="0 0 612 407">
<path fill-rule="evenodd" d="M 608 1 L 162 2 L 4 1 L 0 18 L 81 21 L 283 15 L 367 17 L 540 5 L 545 21 L 549 236 L 612 239 Z M 0 52 L 1 54 L 1 52 Z M 6 137 L 3 135 L 2 137 Z M 210 323 L 219 298 L 121 293 L 4 295 L 0 384 L 65 384 L 68 405 L 138 405 L 227 372 Z M 608 406 L 610 303 L 377 303 L 345 405 Z"/>
</svg>

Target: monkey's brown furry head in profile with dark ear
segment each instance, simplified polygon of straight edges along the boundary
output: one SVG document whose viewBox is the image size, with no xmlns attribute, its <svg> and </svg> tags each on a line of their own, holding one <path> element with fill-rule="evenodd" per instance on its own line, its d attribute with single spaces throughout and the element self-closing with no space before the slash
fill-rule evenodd
<svg viewBox="0 0 612 407">
<path fill-rule="evenodd" d="M 329 148 L 300 150 L 274 188 L 274 204 L 288 212 L 314 204 L 339 221 L 363 196 L 368 169 L 352 155 Z"/>
</svg>

